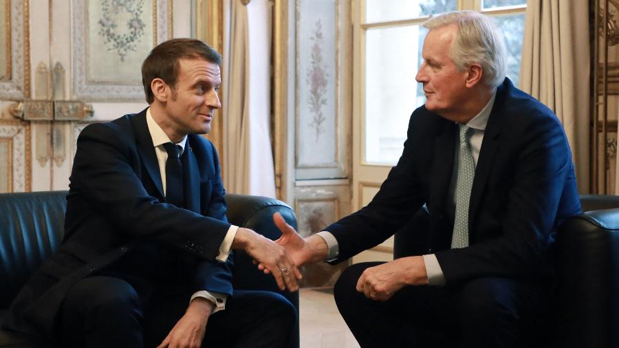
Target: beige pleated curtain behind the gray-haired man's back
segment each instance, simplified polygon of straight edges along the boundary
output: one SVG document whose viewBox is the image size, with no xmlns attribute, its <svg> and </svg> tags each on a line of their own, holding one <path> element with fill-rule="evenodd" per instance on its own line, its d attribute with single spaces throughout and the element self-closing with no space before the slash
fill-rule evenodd
<svg viewBox="0 0 619 348">
<path fill-rule="evenodd" d="M 589 192 L 589 2 L 528 0 L 520 87 L 563 123 L 578 192 Z"/>
</svg>

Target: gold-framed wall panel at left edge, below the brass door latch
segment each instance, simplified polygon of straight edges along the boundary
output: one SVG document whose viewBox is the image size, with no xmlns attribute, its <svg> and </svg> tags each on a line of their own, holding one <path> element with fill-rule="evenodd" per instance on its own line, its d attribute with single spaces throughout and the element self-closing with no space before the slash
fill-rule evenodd
<svg viewBox="0 0 619 348">
<path fill-rule="evenodd" d="M 0 193 L 30 191 L 30 124 L 0 120 Z"/>
</svg>

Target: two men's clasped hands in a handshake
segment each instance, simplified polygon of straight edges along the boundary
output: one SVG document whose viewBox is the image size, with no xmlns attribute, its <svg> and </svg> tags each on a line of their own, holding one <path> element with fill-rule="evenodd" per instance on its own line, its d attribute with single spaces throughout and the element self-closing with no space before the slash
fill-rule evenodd
<svg viewBox="0 0 619 348">
<path fill-rule="evenodd" d="M 304 239 L 279 213 L 273 215 L 273 221 L 282 232 L 279 239 L 272 241 L 248 228 L 239 227 L 232 249 L 245 250 L 259 270 L 273 274 L 281 290 L 294 292 L 298 290 L 297 282 L 303 277 L 298 268 L 305 263 L 324 260 L 327 243 L 318 236 Z"/>
</svg>

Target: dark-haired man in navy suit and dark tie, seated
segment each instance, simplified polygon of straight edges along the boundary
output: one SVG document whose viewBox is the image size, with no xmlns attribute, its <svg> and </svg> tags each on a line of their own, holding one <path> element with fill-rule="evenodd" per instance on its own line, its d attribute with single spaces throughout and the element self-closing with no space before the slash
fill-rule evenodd
<svg viewBox="0 0 619 348">
<path fill-rule="evenodd" d="M 142 66 L 149 107 L 82 131 L 65 238 L 5 327 L 61 347 L 287 344 L 296 312 L 283 296 L 232 290 L 232 249 L 282 290 L 300 274 L 283 247 L 226 220 L 217 153 L 198 135 L 220 107 L 220 64 L 202 41 L 166 41 Z"/>
</svg>

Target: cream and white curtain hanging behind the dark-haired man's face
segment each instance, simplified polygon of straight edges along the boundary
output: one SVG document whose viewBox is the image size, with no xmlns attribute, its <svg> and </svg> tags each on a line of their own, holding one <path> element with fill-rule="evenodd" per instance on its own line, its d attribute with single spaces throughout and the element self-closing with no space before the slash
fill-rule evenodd
<svg viewBox="0 0 619 348">
<path fill-rule="evenodd" d="M 268 6 L 224 1 L 224 185 L 230 193 L 275 197 Z"/>
</svg>

